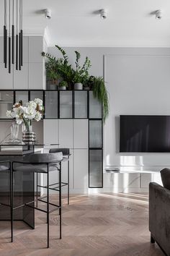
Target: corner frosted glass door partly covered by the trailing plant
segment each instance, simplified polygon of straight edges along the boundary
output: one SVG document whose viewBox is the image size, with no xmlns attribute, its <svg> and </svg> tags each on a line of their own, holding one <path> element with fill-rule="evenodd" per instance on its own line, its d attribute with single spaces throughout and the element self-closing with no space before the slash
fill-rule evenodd
<svg viewBox="0 0 170 256">
<path fill-rule="evenodd" d="M 102 118 L 102 105 L 93 96 L 93 92 L 89 92 L 89 118 Z"/>
</svg>

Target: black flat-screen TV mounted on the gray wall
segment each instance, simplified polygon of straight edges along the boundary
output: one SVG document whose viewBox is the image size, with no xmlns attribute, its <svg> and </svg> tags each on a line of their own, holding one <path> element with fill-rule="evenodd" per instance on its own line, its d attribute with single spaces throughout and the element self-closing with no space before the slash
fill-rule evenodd
<svg viewBox="0 0 170 256">
<path fill-rule="evenodd" d="M 120 116 L 120 152 L 170 152 L 170 116 Z"/>
</svg>

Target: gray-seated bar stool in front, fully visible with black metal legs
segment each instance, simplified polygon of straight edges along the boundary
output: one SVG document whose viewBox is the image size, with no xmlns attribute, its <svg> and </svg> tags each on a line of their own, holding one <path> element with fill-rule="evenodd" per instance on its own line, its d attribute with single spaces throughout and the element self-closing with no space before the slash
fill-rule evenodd
<svg viewBox="0 0 170 256">
<path fill-rule="evenodd" d="M 59 216 L 60 216 L 60 239 L 61 239 L 61 161 L 63 161 L 63 154 L 62 153 L 34 153 L 30 155 L 24 156 L 23 161 L 13 161 L 12 162 L 12 241 L 13 241 L 13 210 L 14 208 L 14 195 L 13 195 L 13 172 L 14 171 L 29 171 L 33 173 L 41 173 L 47 175 L 47 185 L 41 186 L 45 189 L 47 189 L 47 195 L 43 197 L 38 197 L 37 199 L 27 202 L 24 205 L 27 205 L 27 207 L 34 208 L 35 210 L 40 210 L 44 213 L 47 213 L 47 224 L 48 224 L 48 248 L 49 248 L 49 213 L 52 213 L 55 210 L 59 210 Z M 55 205 L 50 202 L 49 200 L 49 174 L 50 171 L 58 171 L 59 172 L 59 186 L 58 189 L 55 189 L 55 191 L 59 192 L 59 203 L 58 205 Z M 44 199 L 47 198 L 47 201 Z M 38 208 L 35 205 L 32 205 L 32 203 L 35 203 L 37 201 L 45 202 L 47 204 L 47 210 L 42 210 L 41 208 Z M 50 210 L 49 205 L 53 205 L 55 208 Z M 17 208 L 23 207 L 23 205 L 17 206 Z"/>
</svg>

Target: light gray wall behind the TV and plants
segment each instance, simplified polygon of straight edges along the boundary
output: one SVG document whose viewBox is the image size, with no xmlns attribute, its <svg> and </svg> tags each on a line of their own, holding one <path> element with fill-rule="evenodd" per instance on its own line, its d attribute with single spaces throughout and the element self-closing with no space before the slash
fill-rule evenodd
<svg viewBox="0 0 170 256">
<path fill-rule="evenodd" d="M 170 166 L 169 153 L 118 152 L 120 114 L 170 115 L 170 48 L 66 48 L 72 64 L 75 50 L 82 59 L 89 56 L 91 74 L 104 75 L 107 84 L 110 114 L 104 127 L 105 166 L 140 170 Z M 48 52 L 61 56 L 55 47 Z"/>
</svg>

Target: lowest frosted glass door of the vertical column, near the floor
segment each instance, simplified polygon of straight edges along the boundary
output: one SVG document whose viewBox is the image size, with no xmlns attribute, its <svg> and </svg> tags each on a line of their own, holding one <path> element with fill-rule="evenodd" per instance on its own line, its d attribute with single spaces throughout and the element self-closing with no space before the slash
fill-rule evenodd
<svg viewBox="0 0 170 256">
<path fill-rule="evenodd" d="M 89 187 L 102 187 L 102 150 L 89 150 Z"/>
</svg>

